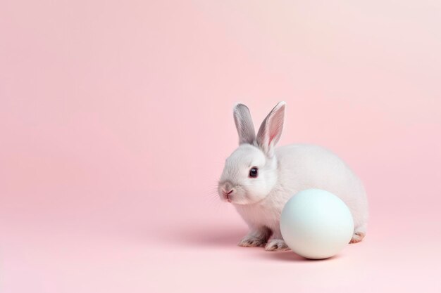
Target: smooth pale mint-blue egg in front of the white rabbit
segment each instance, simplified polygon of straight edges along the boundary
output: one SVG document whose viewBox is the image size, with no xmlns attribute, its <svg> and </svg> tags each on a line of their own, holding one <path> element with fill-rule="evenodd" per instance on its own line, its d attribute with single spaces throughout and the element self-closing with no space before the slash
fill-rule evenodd
<svg viewBox="0 0 441 293">
<path fill-rule="evenodd" d="M 285 204 L 280 231 L 293 252 L 307 259 L 327 259 L 352 238 L 354 220 L 349 207 L 326 190 L 302 190 Z"/>
</svg>

